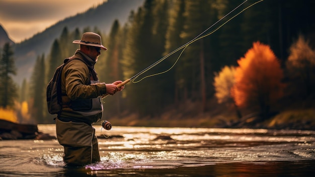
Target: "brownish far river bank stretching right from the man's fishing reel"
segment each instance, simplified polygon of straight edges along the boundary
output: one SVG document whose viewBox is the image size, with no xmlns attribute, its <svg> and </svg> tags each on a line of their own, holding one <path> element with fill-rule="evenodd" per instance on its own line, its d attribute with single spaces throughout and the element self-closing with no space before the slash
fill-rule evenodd
<svg viewBox="0 0 315 177">
<path fill-rule="evenodd" d="M 111 117 L 109 121 L 113 126 L 134 127 L 182 127 L 182 128 L 231 128 L 231 129 L 270 129 L 270 130 L 314 130 L 315 110 L 290 110 L 276 113 L 269 119 L 262 120 L 256 114 L 249 114 L 242 119 L 233 115 L 216 115 L 203 113 L 195 117 L 159 116 L 154 118 L 144 117 L 138 119 L 136 114 Z M 227 118 L 228 117 L 228 118 Z M 105 120 L 103 118 L 103 120 Z"/>
</svg>

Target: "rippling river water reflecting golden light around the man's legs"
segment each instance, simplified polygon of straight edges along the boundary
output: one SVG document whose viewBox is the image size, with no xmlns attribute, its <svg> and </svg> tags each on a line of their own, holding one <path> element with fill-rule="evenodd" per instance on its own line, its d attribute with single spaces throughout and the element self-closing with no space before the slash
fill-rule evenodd
<svg viewBox="0 0 315 177">
<path fill-rule="evenodd" d="M 0 176 L 315 174 L 315 131 L 94 127 L 101 162 L 67 168 L 56 140 L 5 140 L 0 141 Z M 56 135 L 55 125 L 38 129 Z"/>
</svg>

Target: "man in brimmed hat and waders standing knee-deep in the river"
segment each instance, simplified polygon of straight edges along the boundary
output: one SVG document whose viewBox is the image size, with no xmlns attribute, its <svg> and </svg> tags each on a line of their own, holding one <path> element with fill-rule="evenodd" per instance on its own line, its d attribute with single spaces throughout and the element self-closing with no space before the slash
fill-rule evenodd
<svg viewBox="0 0 315 177">
<path fill-rule="evenodd" d="M 94 65 L 107 50 L 101 43 L 101 36 L 87 32 L 81 40 L 80 49 L 70 57 L 61 73 L 62 109 L 56 119 L 56 133 L 60 145 L 64 147 L 63 161 L 67 166 L 83 166 L 99 162 L 100 154 L 95 129 L 92 124 L 102 118 L 102 96 L 114 95 L 123 87 L 100 83 Z"/>
</svg>

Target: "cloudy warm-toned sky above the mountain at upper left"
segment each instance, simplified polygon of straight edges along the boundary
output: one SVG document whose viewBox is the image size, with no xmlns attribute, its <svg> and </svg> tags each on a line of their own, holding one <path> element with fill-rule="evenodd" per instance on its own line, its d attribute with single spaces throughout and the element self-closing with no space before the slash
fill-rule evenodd
<svg viewBox="0 0 315 177">
<path fill-rule="evenodd" d="M 21 42 L 67 17 L 107 0 L 0 0 L 0 25 Z"/>
</svg>

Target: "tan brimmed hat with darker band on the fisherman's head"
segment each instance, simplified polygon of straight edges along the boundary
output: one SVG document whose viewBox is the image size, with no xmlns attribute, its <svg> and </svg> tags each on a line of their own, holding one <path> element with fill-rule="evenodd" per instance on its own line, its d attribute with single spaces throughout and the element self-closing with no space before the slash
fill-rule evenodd
<svg viewBox="0 0 315 177">
<path fill-rule="evenodd" d="M 101 36 L 92 32 L 83 33 L 81 40 L 74 40 L 72 43 L 90 45 L 107 50 L 107 48 L 102 45 Z"/>
</svg>

